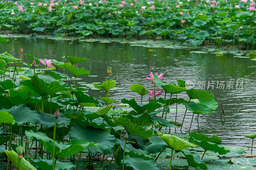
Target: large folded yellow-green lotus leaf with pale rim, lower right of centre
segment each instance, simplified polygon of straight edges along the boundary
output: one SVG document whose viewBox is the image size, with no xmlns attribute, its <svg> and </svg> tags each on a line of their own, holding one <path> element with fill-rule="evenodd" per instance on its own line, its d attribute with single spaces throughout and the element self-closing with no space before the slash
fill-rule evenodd
<svg viewBox="0 0 256 170">
<path fill-rule="evenodd" d="M 180 151 L 182 149 L 187 149 L 189 147 L 196 147 L 195 145 L 179 138 L 174 135 L 169 135 L 169 134 L 162 134 L 162 133 L 157 133 L 158 136 L 160 136 L 164 142 L 173 150 Z"/>
</svg>

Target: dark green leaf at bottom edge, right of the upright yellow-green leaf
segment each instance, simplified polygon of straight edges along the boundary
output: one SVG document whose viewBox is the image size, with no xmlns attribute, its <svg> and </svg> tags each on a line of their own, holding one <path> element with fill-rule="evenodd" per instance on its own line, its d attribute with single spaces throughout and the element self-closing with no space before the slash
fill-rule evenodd
<svg viewBox="0 0 256 170">
<path fill-rule="evenodd" d="M 39 170 L 52 169 L 52 160 L 48 160 L 46 158 L 41 159 L 40 157 L 37 159 L 31 159 L 29 157 L 29 160 L 32 161 L 39 168 Z M 75 167 L 76 166 L 73 165 L 71 162 L 59 162 L 57 160 L 55 163 L 55 170 L 71 170 Z"/>
</svg>

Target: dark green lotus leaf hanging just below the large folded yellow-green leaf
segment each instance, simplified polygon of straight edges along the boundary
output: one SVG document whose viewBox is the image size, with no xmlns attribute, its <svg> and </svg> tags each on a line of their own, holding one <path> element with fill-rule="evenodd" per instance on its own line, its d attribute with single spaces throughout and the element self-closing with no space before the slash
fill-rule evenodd
<svg viewBox="0 0 256 170">
<path fill-rule="evenodd" d="M 181 152 L 185 155 L 189 166 L 199 167 L 200 169 L 208 169 L 204 160 L 201 160 L 198 155 L 192 155 L 190 152 L 187 152 L 186 150 L 181 150 Z"/>
</svg>

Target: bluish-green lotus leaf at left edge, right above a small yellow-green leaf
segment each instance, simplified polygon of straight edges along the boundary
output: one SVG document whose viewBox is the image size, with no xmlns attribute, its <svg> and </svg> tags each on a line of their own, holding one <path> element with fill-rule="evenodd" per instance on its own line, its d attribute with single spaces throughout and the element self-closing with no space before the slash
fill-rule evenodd
<svg viewBox="0 0 256 170">
<path fill-rule="evenodd" d="M 17 124 L 22 123 L 36 123 L 39 118 L 39 112 L 31 110 L 25 105 L 19 105 L 18 107 L 13 106 L 10 109 L 1 109 L 1 111 L 6 111 L 11 114 Z"/>
</svg>

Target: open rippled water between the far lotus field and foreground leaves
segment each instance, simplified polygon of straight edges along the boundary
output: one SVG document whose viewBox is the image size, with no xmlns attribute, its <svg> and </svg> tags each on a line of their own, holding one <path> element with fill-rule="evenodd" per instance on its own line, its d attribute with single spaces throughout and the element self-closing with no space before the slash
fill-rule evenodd
<svg viewBox="0 0 256 170">
<path fill-rule="evenodd" d="M 205 82 L 205 89 L 208 81 L 214 83 L 208 89 L 214 93 L 215 100 L 219 107 L 212 114 L 200 115 L 197 123 L 197 115 L 194 116 L 192 131 L 196 130 L 204 134 L 215 134 L 221 137 L 224 144 L 250 146 L 251 140 L 242 137 L 242 134 L 256 133 L 256 61 L 247 58 L 237 58 L 230 54 L 216 57 L 215 54 L 190 53 L 188 49 L 170 48 L 145 48 L 130 46 L 120 43 L 87 43 L 77 41 L 55 41 L 48 39 L 10 39 L 10 42 L 1 44 L 1 53 L 8 51 L 15 57 L 20 57 L 20 48 L 24 53 L 33 54 L 37 58 L 56 59 L 64 55 L 74 55 L 89 58 L 86 63 L 78 64 L 91 71 L 91 75 L 98 77 L 79 77 L 83 80 L 77 82 L 103 82 L 107 80 L 106 68 L 112 66 L 113 74 L 111 79 L 116 79 L 118 90 L 111 91 L 110 97 L 118 99 L 135 98 L 140 101 L 140 96 L 129 90 L 134 83 L 144 85 L 153 90 L 153 85 L 145 77 L 149 72 L 164 73 L 164 80 L 167 82 L 177 79 L 190 80 L 195 83 L 196 88 Z M 153 52 L 148 51 L 153 49 Z M 29 62 L 25 60 L 25 62 Z M 242 89 L 226 89 L 229 81 L 243 81 Z M 225 89 L 218 89 L 217 81 L 225 81 Z M 232 82 L 231 82 L 232 83 Z M 241 83 L 239 83 L 241 85 Z M 90 95 L 99 99 L 105 92 L 90 90 Z M 148 96 L 147 96 L 148 97 Z M 164 93 L 162 95 L 164 97 Z M 175 97 L 175 96 L 174 96 Z M 178 94 L 178 98 L 186 98 L 186 93 Z M 144 97 L 146 102 L 146 97 Z M 225 118 L 220 120 L 221 107 L 225 110 Z M 175 106 L 172 106 L 173 108 Z M 178 105 L 184 108 L 183 105 Z M 178 122 L 182 122 L 184 112 L 178 112 Z M 183 133 L 188 133 L 192 113 L 188 113 L 185 119 Z M 170 113 L 169 118 L 175 118 L 175 113 Z M 173 130 L 172 130 L 173 131 Z M 180 132 L 180 130 L 177 130 Z M 254 153 L 256 154 L 256 152 Z"/>
</svg>

